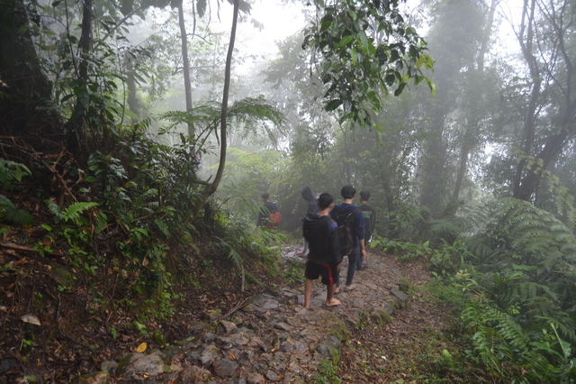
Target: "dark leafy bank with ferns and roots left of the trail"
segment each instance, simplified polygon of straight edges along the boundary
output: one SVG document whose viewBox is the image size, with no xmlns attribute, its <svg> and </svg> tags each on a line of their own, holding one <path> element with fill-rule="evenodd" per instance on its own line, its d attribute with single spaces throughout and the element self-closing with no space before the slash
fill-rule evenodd
<svg viewBox="0 0 576 384">
<path fill-rule="evenodd" d="M 223 315 L 278 278 L 281 234 L 254 230 L 249 213 L 216 198 L 192 216 L 202 183 L 188 143 L 159 144 L 139 126 L 114 139 L 87 169 L 66 152 L 0 162 L 4 355 L 49 366 L 58 340 L 91 356 L 128 334 L 184 338 L 154 325 L 183 307 Z"/>
</svg>

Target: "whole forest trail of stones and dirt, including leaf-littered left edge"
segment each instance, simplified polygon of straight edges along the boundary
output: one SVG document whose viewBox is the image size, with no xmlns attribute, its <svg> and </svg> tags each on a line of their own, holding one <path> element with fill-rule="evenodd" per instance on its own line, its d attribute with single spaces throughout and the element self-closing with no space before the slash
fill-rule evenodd
<svg viewBox="0 0 576 384">
<path fill-rule="evenodd" d="M 304 261 L 296 256 L 296 249 L 287 250 L 286 256 L 293 257 L 303 273 Z M 204 295 L 189 312 L 156 325 L 167 343 L 157 340 L 152 325 L 147 334 L 129 334 L 117 326 L 113 342 L 105 341 L 103 326 L 85 327 L 85 334 L 79 330 L 74 337 L 85 345 L 96 345 L 93 353 L 66 340 L 39 340 L 43 352 L 30 353 L 27 360 L 17 355 L 18 364 L 0 371 L 0 383 L 16 382 L 24 374 L 35 375 L 37 383 L 78 381 L 78 373 L 92 374 L 91 379 L 79 382 L 94 382 L 95 375 L 103 383 L 261 384 L 338 379 L 385 383 L 409 378 L 406 382 L 424 382 L 410 376 L 418 374 L 410 372 L 410 364 L 406 368 L 406 360 L 419 361 L 418 356 L 410 357 L 410 343 L 419 334 L 442 329 L 446 311 L 431 305 L 415 289 L 430 279 L 421 263 L 401 263 L 374 250 L 369 256 L 367 268 L 356 272 L 357 288 L 338 294 L 341 306 L 323 306 L 326 288 L 320 281 L 314 285 L 311 309 L 302 308 L 303 284 L 256 293 L 250 304 L 226 318 L 220 316 L 229 313 L 226 303 L 232 297 L 236 303 L 242 300 L 228 291 L 216 293 L 217 297 Z M 342 279 L 346 279 L 346 262 Z M 219 299 L 221 310 L 212 310 Z M 142 343 L 146 348 L 142 349 Z M 40 345 L 31 348 L 33 352 Z M 427 348 L 430 353 L 441 353 L 443 346 Z M 0 362 L 4 361 L 8 358 Z"/>
</svg>

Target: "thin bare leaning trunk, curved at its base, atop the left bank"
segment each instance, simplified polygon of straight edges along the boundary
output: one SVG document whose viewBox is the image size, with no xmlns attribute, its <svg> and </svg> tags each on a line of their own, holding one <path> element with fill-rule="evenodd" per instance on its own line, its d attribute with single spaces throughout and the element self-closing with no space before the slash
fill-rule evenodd
<svg viewBox="0 0 576 384">
<path fill-rule="evenodd" d="M 232 18 L 232 30 L 230 31 L 230 42 L 228 47 L 228 55 L 226 56 L 226 69 L 224 73 L 224 89 L 222 91 L 222 105 L 220 111 L 220 163 L 214 181 L 207 184 L 202 192 L 202 197 L 195 204 L 193 208 L 192 219 L 194 220 L 202 206 L 206 204 L 208 199 L 218 190 L 220 180 L 224 174 L 224 166 L 226 164 L 226 151 L 227 151 L 227 115 L 228 115 L 228 96 L 230 89 L 230 72 L 232 68 L 232 53 L 234 52 L 234 41 L 236 41 L 236 25 L 238 23 L 238 5 L 239 0 L 234 0 L 234 15 Z"/>
</svg>

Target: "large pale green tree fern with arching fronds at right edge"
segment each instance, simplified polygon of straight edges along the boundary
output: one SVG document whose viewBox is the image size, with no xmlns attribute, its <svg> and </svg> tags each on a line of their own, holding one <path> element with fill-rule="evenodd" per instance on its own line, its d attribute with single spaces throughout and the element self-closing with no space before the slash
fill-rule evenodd
<svg viewBox="0 0 576 384">
<path fill-rule="evenodd" d="M 554 215 L 526 201 L 500 199 L 487 209 L 491 215 L 482 216 L 488 221 L 476 221 L 478 231 L 467 241 L 481 264 L 479 270 L 506 274 L 514 265 L 529 266 L 523 281 L 526 285 L 514 288 L 515 293 L 540 295 L 544 290 L 554 300 L 567 302 L 564 295 L 570 292 L 564 281 L 576 279 L 576 239 L 571 231 Z M 539 289 L 532 289 L 536 287 Z M 559 287 L 562 292 L 556 290 Z"/>
</svg>

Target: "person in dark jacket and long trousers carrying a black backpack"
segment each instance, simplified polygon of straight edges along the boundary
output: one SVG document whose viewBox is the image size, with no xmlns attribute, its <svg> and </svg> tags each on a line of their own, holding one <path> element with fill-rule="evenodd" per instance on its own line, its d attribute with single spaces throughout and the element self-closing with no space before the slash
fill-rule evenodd
<svg viewBox="0 0 576 384">
<path fill-rule="evenodd" d="M 352 186 L 344 186 L 340 191 L 344 201 L 337 206 L 332 208 L 330 212 L 330 217 L 338 224 L 338 237 L 340 238 L 340 248 L 343 245 L 343 231 L 341 228 L 347 227 L 344 232 L 348 236 L 351 236 L 351 248 L 344 251 L 348 256 L 348 274 L 346 278 L 346 286 L 344 290 L 356 289 L 356 285 L 352 284 L 352 279 L 354 279 L 354 274 L 356 272 L 356 258 L 361 257 L 365 259 L 366 249 L 364 242 L 364 215 L 362 211 L 352 204 L 354 197 L 356 196 L 356 188 Z M 358 251 L 358 246 L 360 250 Z M 343 250 L 341 250 L 343 251 Z M 336 273 L 336 291 L 340 292 L 340 272 Z"/>
</svg>

